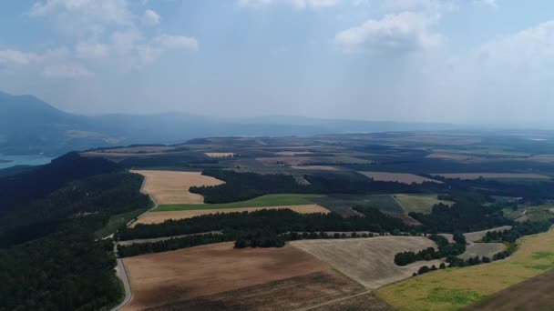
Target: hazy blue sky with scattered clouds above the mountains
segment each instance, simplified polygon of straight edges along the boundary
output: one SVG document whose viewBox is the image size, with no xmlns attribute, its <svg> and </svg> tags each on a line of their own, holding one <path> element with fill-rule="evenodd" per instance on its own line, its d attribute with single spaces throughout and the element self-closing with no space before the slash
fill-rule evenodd
<svg viewBox="0 0 554 311">
<path fill-rule="evenodd" d="M 68 112 L 554 127 L 551 0 L 18 0 L 0 8 L 0 90 Z"/>
</svg>

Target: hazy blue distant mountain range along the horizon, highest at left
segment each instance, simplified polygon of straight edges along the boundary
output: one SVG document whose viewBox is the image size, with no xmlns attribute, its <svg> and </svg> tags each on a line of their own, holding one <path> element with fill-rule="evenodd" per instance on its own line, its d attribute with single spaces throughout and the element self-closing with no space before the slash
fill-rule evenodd
<svg viewBox="0 0 554 311">
<path fill-rule="evenodd" d="M 455 125 L 327 120 L 298 116 L 217 118 L 182 113 L 74 115 L 32 95 L 0 92 L 0 154 L 58 156 L 97 146 L 177 144 L 209 136 L 282 136 L 447 130 Z"/>
</svg>

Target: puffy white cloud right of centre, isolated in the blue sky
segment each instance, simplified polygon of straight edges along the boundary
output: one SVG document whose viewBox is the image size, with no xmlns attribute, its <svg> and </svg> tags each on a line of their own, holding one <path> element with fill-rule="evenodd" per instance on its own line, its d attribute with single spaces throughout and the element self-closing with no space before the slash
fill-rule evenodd
<svg viewBox="0 0 554 311">
<path fill-rule="evenodd" d="M 345 53 L 424 50 L 441 45 L 442 36 L 429 29 L 437 19 L 413 12 L 385 15 L 382 19 L 370 19 L 363 25 L 341 31 L 335 35 L 334 42 Z"/>
</svg>

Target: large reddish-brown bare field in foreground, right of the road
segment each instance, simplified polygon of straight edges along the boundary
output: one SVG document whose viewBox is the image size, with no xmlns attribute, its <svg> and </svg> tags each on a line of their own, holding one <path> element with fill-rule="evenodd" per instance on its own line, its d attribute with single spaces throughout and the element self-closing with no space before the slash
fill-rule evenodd
<svg viewBox="0 0 554 311">
<path fill-rule="evenodd" d="M 133 292 L 123 310 L 290 310 L 362 291 L 292 246 L 221 243 L 123 260 Z"/>
</svg>

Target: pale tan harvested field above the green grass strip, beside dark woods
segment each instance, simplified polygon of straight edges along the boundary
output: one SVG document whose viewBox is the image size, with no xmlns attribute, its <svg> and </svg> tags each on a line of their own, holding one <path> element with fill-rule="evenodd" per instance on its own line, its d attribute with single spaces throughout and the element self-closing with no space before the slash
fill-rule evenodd
<svg viewBox="0 0 554 311">
<path fill-rule="evenodd" d="M 146 181 L 142 191 L 152 196 L 159 205 L 204 203 L 204 197 L 189 192 L 190 186 L 223 184 L 221 180 L 203 176 L 200 172 L 145 170 L 132 170 L 131 172 L 145 176 Z"/>
</svg>

